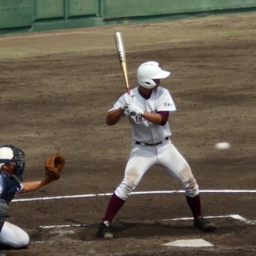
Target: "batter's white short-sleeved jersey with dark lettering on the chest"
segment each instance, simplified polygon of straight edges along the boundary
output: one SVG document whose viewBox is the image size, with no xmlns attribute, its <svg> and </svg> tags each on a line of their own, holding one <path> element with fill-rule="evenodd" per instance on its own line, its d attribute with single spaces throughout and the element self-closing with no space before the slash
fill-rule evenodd
<svg viewBox="0 0 256 256">
<path fill-rule="evenodd" d="M 130 91 L 134 95 L 134 102 L 139 108 L 144 111 L 156 113 L 157 111 L 175 111 L 175 103 L 169 91 L 163 87 L 157 87 L 157 90 L 152 91 L 149 99 L 143 98 L 139 93 L 139 87 Z M 117 99 L 114 107 L 109 111 L 120 108 L 125 104 L 126 93 Z M 172 135 L 169 128 L 169 123 L 158 125 L 149 122 L 140 115 L 130 116 L 126 111 L 124 113 L 128 116 L 132 125 L 133 142 L 157 143 L 163 141 L 166 137 Z"/>
</svg>

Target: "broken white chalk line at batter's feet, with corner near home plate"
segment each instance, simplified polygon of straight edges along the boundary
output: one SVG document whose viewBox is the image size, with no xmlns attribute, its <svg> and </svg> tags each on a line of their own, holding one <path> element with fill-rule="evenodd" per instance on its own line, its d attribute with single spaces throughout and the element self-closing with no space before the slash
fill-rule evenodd
<svg viewBox="0 0 256 256">
<path fill-rule="evenodd" d="M 220 216 L 206 216 L 204 218 L 233 218 L 236 221 L 241 221 L 248 225 L 255 225 L 256 221 L 251 221 L 246 218 L 243 218 L 241 215 L 220 215 Z M 161 221 L 190 221 L 194 218 L 168 218 L 163 219 Z M 149 223 L 149 221 L 146 221 Z M 41 230 L 49 230 L 49 229 L 61 229 L 66 227 L 91 227 L 92 224 L 62 224 L 62 225 L 48 225 L 48 226 L 39 226 Z"/>
</svg>

